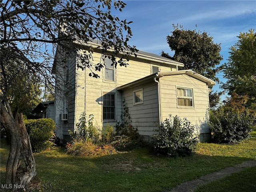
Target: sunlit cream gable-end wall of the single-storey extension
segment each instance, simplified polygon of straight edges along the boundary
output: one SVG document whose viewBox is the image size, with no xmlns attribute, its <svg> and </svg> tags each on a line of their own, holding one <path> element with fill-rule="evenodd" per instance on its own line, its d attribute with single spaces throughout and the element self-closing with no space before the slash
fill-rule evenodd
<svg viewBox="0 0 256 192">
<path fill-rule="evenodd" d="M 193 108 L 177 106 L 176 88 L 192 88 Z M 210 129 L 206 124 L 206 115 L 209 107 L 208 86 L 195 78 L 182 75 L 164 76 L 160 78 L 161 116 L 162 121 L 172 116 L 187 118 L 192 124 L 198 125 L 201 137 L 208 137 Z M 204 138 L 203 138 L 204 139 Z M 205 138 L 207 140 L 207 138 Z M 204 140 L 205 140 L 204 139 Z"/>
</svg>

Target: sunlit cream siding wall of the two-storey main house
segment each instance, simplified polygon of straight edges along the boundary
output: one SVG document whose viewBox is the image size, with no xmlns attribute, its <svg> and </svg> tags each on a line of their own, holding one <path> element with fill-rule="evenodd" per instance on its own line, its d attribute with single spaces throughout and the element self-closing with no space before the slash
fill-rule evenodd
<svg viewBox="0 0 256 192">
<path fill-rule="evenodd" d="M 81 51 L 80 54 L 83 54 Z M 93 64 L 102 63 L 101 60 L 102 54 L 94 52 L 93 54 Z M 75 102 L 75 117 L 74 124 L 78 122 L 79 116 L 82 112 L 85 112 L 87 116 L 90 114 L 94 115 L 94 124 L 97 124 L 99 128 L 109 125 L 116 125 L 118 121 L 120 121 L 120 116 L 123 110 L 123 98 L 122 92 L 116 90 L 116 87 L 122 86 L 124 84 L 133 82 L 140 78 L 144 78 L 148 76 L 152 72 L 152 65 L 158 66 L 162 72 L 170 72 L 172 70 L 176 70 L 176 66 L 168 66 L 150 62 L 148 60 L 136 59 L 130 60 L 128 62 L 127 67 L 117 66 L 115 69 L 115 81 L 110 82 L 104 80 L 105 68 L 103 68 L 100 72 L 94 71 L 92 67 L 92 71 L 96 72 L 100 76 L 100 78 L 93 78 L 89 76 L 91 70 L 86 68 L 84 71 L 76 70 L 76 102 Z M 116 98 L 116 120 L 115 121 L 103 121 L 102 117 L 102 96 L 106 93 L 114 93 Z"/>
</svg>

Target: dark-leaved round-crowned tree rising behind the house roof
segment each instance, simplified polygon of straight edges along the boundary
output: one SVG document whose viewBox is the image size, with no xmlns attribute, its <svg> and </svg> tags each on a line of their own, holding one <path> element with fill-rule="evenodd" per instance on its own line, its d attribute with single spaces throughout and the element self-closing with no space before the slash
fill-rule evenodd
<svg viewBox="0 0 256 192">
<path fill-rule="evenodd" d="M 219 82 L 216 73 L 222 70 L 218 66 L 222 60 L 220 55 L 220 44 L 213 42 L 213 38 L 206 32 L 197 32 L 196 30 L 186 30 L 182 26 L 173 26 L 171 35 L 166 37 L 174 56 L 162 52 L 161 55 L 167 58 L 182 62 L 182 69 L 191 69 L 207 78 Z M 216 106 L 220 101 L 222 92 L 215 92 L 209 95 L 210 107 Z"/>
</svg>

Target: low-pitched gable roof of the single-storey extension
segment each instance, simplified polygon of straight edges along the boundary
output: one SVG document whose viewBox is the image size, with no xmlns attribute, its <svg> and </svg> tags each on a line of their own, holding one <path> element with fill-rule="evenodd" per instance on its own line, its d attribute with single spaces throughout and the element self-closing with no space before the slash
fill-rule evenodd
<svg viewBox="0 0 256 192">
<path fill-rule="evenodd" d="M 152 80 L 154 80 L 154 78 L 161 78 L 163 76 L 182 75 L 182 74 L 186 74 L 186 75 L 188 75 L 192 78 L 200 80 L 200 81 L 206 83 L 208 86 L 215 85 L 215 82 L 213 80 L 210 80 L 210 79 L 206 78 L 205 76 L 202 76 L 202 75 L 200 75 L 200 74 L 198 74 L 198 73 L 196 73 L 192 70 L 179 70 L 179 71 L 171 71 L 171 72 L 154 73 L 154 74 L 151 74 L 151 75 L 146 76 L 144 78 L 141 78 L 141 79 L 138 79 L 136 81 L 130 82 L 128 84 L 119 86 L 116 89 L 117 90 L 123 90 L 123 89 L 126 89 L 126 88 L 132 88 L 134 86 L 137 86 L 138 84 L 142 84 L 142 83 L 145 83 L 145 82 L 152 81 Z"/>
</svg>

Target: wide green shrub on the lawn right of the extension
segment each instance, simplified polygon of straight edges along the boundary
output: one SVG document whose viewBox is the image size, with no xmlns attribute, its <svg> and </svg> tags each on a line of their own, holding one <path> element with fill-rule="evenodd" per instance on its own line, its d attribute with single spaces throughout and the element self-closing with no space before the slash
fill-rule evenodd
<svg viewBox="0 0 256 192">
<path fill-rule="evenodd" d="M 250 138 L 253 118 L 248 112 L 219 108 L 209 114 L 209 126 L 215 142 L 232 144 Z"/>
</svg>

